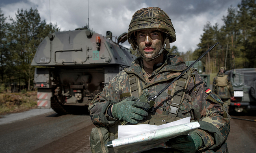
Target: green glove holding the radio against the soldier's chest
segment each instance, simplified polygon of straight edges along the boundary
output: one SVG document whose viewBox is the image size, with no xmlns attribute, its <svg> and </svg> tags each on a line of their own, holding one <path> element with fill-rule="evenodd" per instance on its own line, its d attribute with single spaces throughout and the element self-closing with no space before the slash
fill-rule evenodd
<svg viewBox="0 0 256 153">
<path fill-rule="evenodd" d="M 136 97 L 129 97 L 113 104 L 113 117 L 115 117 L 115 119 L 128 121 L 132 124 L 137 124 L 143 119 L 143 116 L 148 116 L 148 112 L 143 109 L 150 108 L 150 105 L 145 102 L 135 102 L 137 99 Z"/>
</svg>

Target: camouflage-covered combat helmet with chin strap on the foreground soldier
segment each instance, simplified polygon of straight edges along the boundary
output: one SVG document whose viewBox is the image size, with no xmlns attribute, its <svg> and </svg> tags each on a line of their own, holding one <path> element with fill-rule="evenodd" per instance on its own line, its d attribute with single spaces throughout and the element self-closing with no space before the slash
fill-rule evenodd
<svg viewBox="0 0 256 153">
<path fill-rule="evenodd" d="M 158 30 L 163 32 L 165 34 L 165 40 L 163 45 L 166 44 L 166 49 L 170 49 L 170 43 L 176 41 L 175 30 L 174 26 L 171 23 L 171 19 L 165 13 L 165 11 L 161 10 L 161 8 L 158 7 L 141 8 L 140 10 L 136 11 L 134 15 L 132 15 L 127 39 L 128 42 L 131 44 L 132 49 L 134 51 L 137 49 L 139 55 L 140 53 L 137 47 L 137 41 L 135 40 L 134 32 L 140 30 Z M 163 49 L 159 52 L 159 55 L 162 52 Z"/>
</svg>

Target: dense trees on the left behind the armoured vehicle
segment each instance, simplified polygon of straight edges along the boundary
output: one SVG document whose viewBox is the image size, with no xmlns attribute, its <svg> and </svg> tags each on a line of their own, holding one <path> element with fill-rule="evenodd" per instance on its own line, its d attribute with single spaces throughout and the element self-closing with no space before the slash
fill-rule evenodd
<svg viewBox="0 0 256 153">
<path fill-rule="evenodd" d="M 34 70 L 31 62 L 41 41 L 59 31 L 47 24 L 37 9 L 17 10 L 15 19 L 4 16 L 0 8 L 0 92 L 31 90 Z"/>
</svg>

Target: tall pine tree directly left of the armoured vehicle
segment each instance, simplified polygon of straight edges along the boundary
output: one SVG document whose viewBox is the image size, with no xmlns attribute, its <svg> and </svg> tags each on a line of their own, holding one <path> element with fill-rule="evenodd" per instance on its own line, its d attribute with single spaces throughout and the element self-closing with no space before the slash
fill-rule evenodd
<svg viewBox="0 0 256 153">
<path fill-rule="evenodd" d="M 17 55 L 15 59 L 16 70 L 19 74 L 17 77 L 19 77 L 19 81 L 24 80 L 27 89 L 30 90 L 35 69 L 31 66 L 31 62 L 37 47 L 50 31 L 59 31 L 59 28 L 56 25 L 47 25 L 46 21 L 41 21 L 37 9 L 30 8 L 29 11 L 18 9 L 15 15 L 16 19 L 11 18 L 11 41 L 15 42 L 13 50 Z"/>
</svg>

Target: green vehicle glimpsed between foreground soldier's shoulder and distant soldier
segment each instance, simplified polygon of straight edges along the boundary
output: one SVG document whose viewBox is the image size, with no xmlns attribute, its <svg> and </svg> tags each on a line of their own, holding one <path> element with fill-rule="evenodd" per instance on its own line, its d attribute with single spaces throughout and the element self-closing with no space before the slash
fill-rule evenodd
<svg viewBox="0 0 256 153">
<path fill-rule="evenodd" d="M 190 66 L 195 61 L 186 61 L 186 65 Z M 198 74 L 204 79 L 206 85 L 210 87 L 210 74 L 205 74 L 205 68 L 202 64 L 202 61 L 198 61 L 193 66 L 198 72 Z"/>
</svg>

